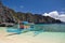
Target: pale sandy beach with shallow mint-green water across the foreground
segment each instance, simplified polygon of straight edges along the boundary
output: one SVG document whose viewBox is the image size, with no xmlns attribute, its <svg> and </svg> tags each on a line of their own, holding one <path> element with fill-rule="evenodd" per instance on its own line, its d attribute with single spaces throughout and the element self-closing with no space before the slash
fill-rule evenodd
<svg viewBox="0 0 65 43">
<path fill-rule="evenodd" d="M 10 34 L 6 27 L 0 27 L 0 43 L 65 43 L 65 32 L 41 32 L 38 35 L 34 31 L 22 34 Z"/>
</svg>

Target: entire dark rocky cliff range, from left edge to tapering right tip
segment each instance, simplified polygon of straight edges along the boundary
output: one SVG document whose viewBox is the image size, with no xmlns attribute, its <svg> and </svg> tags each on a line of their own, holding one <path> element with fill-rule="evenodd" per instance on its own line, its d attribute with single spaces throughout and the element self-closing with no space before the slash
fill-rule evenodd
<svg viewBox="0 0 65 43">
<path fill-rule="evenodd" d="M 50 16 L 42 16 L 41 14 L 22 13 L 6 8 L 0 2 L 0 24 L 1 23 L 18 23 L 28 22 L 34 24 L 61 24 L 60 19 L 52 18 Z"/>
</svg>

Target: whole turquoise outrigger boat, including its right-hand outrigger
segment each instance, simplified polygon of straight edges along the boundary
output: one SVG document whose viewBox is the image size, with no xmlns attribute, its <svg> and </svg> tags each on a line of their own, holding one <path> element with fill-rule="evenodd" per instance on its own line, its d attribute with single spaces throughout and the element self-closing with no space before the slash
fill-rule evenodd
<svg viewBox="0 0 65 43">
<path fill-rule="evenodd" d="M 36 26 L 34 23 L 21 22 L 13 27 L 6 28 L 8 32 L 11 32 L 9 35 L 21 34 L 28 31 L 35 31 L 34 34 L 37 35 L 40 32 L 43 32 L 42 27 Z"/>
</svg>

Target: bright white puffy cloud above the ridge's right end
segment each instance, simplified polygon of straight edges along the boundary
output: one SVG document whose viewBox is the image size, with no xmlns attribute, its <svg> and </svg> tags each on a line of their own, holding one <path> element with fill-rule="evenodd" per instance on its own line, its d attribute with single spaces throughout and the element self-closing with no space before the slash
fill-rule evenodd
<svg viewBox="0 0 65 43">
<path fill-rule="evenodd" d="M 65 14 L 58 14 L 57 11 L 53 11 L 53 12 L 50 12 L 50 13 L 44 13 L 42 15 L 43 16 L 50 16 L 50 17 L 53 17 L 55 19 L 60 19 L 62 22 L 65 22 Z"/>
</svg>

